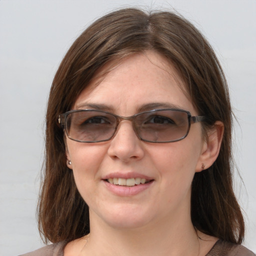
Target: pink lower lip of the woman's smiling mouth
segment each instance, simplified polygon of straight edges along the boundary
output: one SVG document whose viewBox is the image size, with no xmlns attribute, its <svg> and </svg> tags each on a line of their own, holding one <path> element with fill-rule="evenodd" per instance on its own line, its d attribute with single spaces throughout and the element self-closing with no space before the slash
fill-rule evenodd
<svg viewBox="0 0 256 256">
<path fill-rule="evenodd" d="M 138 193 L 146 190 L 147 188 L 149 188 L 153 183 L 153 180 L 152 180 L 147 183 L 134 185 L 134 186 L 121 186 L 121 185 L 111 184 L 105 180 L 103 180 L 103 181 L 104 181 L 107 189 L 118 196 L 131 196 L 131 195 L 138 194 Z"/>
</svg>

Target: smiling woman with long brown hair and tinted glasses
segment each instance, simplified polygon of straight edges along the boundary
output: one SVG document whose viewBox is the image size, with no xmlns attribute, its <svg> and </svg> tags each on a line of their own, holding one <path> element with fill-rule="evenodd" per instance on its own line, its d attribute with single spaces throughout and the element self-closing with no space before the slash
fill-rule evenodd
<svg viewBox="0 0 256 256">
<path fill-rule="evenodd" d="M 231 109 L 216 56 L 171 12 L 90 25 L 54 77 L 39 230 L 25 255 L 254 255 L 240 245 Z"/>
</svg>

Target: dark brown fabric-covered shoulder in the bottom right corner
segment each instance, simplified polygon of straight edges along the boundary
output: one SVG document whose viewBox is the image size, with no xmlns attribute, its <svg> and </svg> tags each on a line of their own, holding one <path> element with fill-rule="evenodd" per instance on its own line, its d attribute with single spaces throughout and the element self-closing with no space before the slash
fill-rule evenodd
<svg viewBox="0 0 256 256">
<path fill-rule="evenodd" d="M 235 244 L 221 239 L 217 240 L 206 256 L 255 256 L 255 254 L 240 244 Z"/>
</svg>

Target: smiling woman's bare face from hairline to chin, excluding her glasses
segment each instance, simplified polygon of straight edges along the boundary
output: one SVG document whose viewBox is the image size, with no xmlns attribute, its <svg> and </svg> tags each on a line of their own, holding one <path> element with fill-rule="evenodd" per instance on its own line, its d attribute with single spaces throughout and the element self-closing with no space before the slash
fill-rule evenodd
<svg viewBox="0 0 256 256">
<path fill-rule="evenodd" d="M 106 68 L 109 65 L 102 71 Z M 96 82 L 81 92 L 73 109 L 94 105 L 96 109 L 129 116 L 155 105 L 173 105 L 197 115 L 180 89 L 182 80 L 174 68 L 153 51 L 125 58 L 93 86 Z M 171 143 L 140 140 L 127 120 L 120 122 L 109 141 L 81 143 L 66 138 L 67 159 L 72 162 L 68 167 L 89 206 L 90 221 L 134 228 L 187 218 L 191 181 L 202 164 L 204 139 L 200 125 L 192 124 L 187 137 Z M 109 178 L 150 182 L 115 185 L 108 182 Z"/>
</svg>

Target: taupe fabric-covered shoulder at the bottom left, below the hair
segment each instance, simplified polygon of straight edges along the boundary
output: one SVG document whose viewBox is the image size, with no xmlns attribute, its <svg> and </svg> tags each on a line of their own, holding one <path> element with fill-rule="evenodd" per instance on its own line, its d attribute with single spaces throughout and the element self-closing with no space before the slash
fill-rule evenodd
<svg viewBox="0 0 256 256">
<path fill-rule="evenodd" d="M 64 245 L 64 242 L 53 243 L 20 256 L 63 256 Z"/>
</svg>

